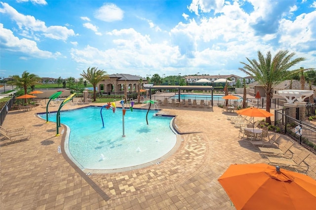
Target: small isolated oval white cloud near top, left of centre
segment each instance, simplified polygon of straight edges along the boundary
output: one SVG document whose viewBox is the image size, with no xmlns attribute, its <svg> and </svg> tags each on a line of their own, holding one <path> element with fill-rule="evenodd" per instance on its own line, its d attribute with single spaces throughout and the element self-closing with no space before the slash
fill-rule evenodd
<svg viewBox="0 0 316 210">
<path fill-rule="evenodd" d="M 114 3 L 106 3 L 94 13 L 95 18 L 105 22 L 122 20 L 123 16 L 123 10 Z"/>
</svg>

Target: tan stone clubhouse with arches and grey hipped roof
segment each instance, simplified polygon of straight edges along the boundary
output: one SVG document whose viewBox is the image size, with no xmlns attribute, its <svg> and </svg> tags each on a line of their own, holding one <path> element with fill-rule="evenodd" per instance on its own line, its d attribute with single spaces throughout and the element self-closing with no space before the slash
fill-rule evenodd
<svg viewBox="0 0 316 210">
<path fill-rule="evenodd" d="M 124 92 L 126 85 L 126 91 L 137 91 L 139 80 L 143 79 L 141 87 L 147 84 L 147 80 L 141 76 L 135 76 L 125 73 L 110 74 L 109 79 L 102 80 L 97 84 L 98 90 L 104 90 L 104 92 Z"/>
</svg>

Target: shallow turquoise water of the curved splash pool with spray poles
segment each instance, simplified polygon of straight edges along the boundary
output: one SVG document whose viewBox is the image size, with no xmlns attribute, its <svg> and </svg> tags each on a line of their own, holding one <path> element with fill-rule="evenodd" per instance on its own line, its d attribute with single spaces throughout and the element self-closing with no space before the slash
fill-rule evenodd
<svg viewBox="0 0 316 210">
<path fill-rule="evenodd" d="M 157 160 L 176 144 L 176 134 L 170 128 L 172 117 L 153 116 L 147 110 L 126 109 L 125 137 L 122 137 L 122 109 L 115 113 L 101 107 L 85 107 L 61 112 L 61 123 L 70 127 L 69 152 L 85 169 L 118 169 Z M 40 114 L 46 119 L 46 114 Z M 49 121 L 56 122 L 56 113 Z M 67 143 L 65 142 L 65 145 Z"/>
</svg>

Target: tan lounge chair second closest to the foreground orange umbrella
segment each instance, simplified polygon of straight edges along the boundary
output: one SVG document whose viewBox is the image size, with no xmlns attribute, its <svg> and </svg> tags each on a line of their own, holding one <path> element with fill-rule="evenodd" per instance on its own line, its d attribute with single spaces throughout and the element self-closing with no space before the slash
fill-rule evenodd
<svg viewBox="0 0 316 210">
<path fill-rule="evenodd" d="M 279 138 L 279 135 L 275 137 L 275 142 Z M 288 156 L 293 157 L 293 152 L 290 150 L 290 148 L 294 145 L 293 140 L 287 141 L 285 144 L 279 145 L 278 148 L 268 148 L 268 147 L 259 147 L 260 149 L 260 156 L 261 157 L 267 157 L 267 156 Z M 289 153 L 288 153 L 289 152 Z"/>
</svg>

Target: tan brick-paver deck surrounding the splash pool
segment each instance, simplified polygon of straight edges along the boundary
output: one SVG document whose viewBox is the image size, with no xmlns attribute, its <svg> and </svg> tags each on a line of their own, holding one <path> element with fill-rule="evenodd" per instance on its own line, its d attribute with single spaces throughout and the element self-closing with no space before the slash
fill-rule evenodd
<svg viewBox="0 0 316 210">
<path fill-rule="evenodd" d="M 82 106 L 65 105 L 63 110 Z M 238 138 L 239 130 L 227 120 L 235 113 L 217 106 L 160 108 L 161 114 L 176 115 L 181 133 L 176 152 L 146 168 L 91 175 L 58 153 L 66 128 L 62 125 L 63 134 L 56 137 L 56 124 L 36 116 L 45 108 L 9 111 L 2 126 L 24 126 L 32 137 L 0 147 L 0 209 L 235 209 L 217 179 L 231 164 L 268 163 L 258 148 Z M 281 135 L 281 141 L 289 139 Z M 295 143 L 293 152 L 301 148 Z M 315 169 L 316 155 L 311 153 L 306 162 Z"/>
</svg>

